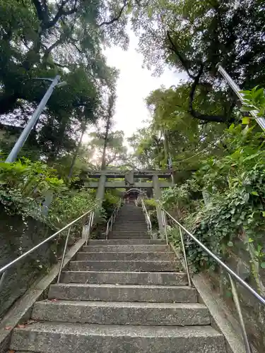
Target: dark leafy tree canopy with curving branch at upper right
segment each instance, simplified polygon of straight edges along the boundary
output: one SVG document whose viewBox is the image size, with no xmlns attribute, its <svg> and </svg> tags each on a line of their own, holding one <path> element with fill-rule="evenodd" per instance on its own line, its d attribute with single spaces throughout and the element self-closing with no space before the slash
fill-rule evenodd
<svg viewBox="0 0 265 353">
<path fill-rule="evenodd" d="M 264 85 L 264 4 L 259 0 L 151 0 L 136 8 L 133 28 L 144 64 L 161 73 L 165 63 L 187 73 L 189 113 L 202 121 L 235 120 L 235 96 L 218 76 L 222 64 L 242 88 Z M 259 68 L 259 70 L 257 70 Z M 202 112 L 194 100 L 204 90 L 219 112 Z"/>
</svg>

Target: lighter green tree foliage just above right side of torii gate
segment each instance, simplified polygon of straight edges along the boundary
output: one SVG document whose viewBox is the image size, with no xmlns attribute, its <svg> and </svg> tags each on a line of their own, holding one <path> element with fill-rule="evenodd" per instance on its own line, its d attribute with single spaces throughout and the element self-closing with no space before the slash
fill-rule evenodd
<svg viewBox="0 0 265 353">
<path fill-rule="evenodd" d="M 213 97 L 205 99 L 201 90 L 194 98 L 194 107 L 204 114 L 213 114 L 222 107 Z M 206 155 L 221 155 L 220 145 L 225 125 L 200 124 L 189 113 L 189 85 L 154 90 L 146 98 L 152 120 L 149 126 L 134 133 L 129 142 L 134 155 L 145 167 L 167 168 L 169 157 L 172 167 L 179 170 L 194 170 Z"/>
</svg>

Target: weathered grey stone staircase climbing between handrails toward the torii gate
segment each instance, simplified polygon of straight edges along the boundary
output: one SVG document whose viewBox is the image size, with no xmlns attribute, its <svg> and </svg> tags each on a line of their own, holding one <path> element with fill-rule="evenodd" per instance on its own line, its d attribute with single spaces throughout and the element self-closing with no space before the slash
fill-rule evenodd
<svg viewBox="0 0 265 353">
<path fill-rule="evenodd" d="M 137 237 L 136 230 L 130 236 L 144 220 L 137 214 L 136 206 L 125 205 L 112 239 L 83 246 L 61 283 L 49 287 L 48 299 L 35 303 L 33 321 L 14 330 L 11 350 L 226 353 L 223 335 L 211 327 L 170 246 Z M 130 222 L 121 231 L 124 218 Z"/>
</svg>

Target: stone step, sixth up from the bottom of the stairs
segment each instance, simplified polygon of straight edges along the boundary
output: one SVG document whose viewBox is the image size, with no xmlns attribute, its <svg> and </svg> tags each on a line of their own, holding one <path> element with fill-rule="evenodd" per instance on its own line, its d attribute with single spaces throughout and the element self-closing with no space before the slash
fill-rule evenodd
<svg viewBox="0 0 265 353">
<path fill-rule="evenodd" d="M 176 255 L 173 252 L 139 252 L 139 253 L 84 253 L 78 252 L 76 254 L 76 261 L 153 261 L 153 260 L 175 260 Z"/>
</svg>

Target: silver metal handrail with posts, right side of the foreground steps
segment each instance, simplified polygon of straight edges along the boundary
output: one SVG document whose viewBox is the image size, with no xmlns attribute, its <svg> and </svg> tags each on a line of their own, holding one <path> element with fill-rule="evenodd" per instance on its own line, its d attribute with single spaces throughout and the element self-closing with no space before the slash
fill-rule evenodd
<svg viewBox="0 0 265 353">
<path fill-rule="evenodd" d="M 208 253 L 208 255 L 211 256 L 211 258 L 213 258 L 228 273 L 228 277 L 229 277 L 231 289 L 232 289 L 232 297 L 234 299 L 235 307 L 237 309 L 237 314 L 238 314 L 238 318 L 240 321 L 240 327 L 242 330 L 242 336 L 243 336 L 243 340 L 244 340 L 244 344 L 245 344 L 246 353 L 252 353 L 252 349 L 250 347 L 249 340 L 247 337 L 247 330 L 245 328 L 245 322 L 244 322 L 243 315 L 242 315 L 242 309 L 240 306 L 240 299 L 238 297 L 235 281 L 240 283 L 240 285 L 242 285 L 243 287 L 245 287 L 245 289 L 247 289 L 249 292 L 251 292 L 254 295 L 254 297 L 257 298 L 259 300 L 259 302 L 263 305 L 265 305 L 265 298 L 261 297 L 261 295 L 259 293 L 257 293 L 251 286 L 249 286 L 247 284 L 247 282 L 242 280 L 242 278 L 239 275 L 237 275 L 228 265 L 225 265 L 225 263 L 223 263 L 223 261 L 221 261 L 220 258 L 218 258 L 218 256 L 216 256 L 214 253 L 212 253 L 211 250 L 209 250 L 207 248 L 207 246 L 205 246 L 203 243 L 201 243 L 201 241 L 199 241 L 199 239 L 194 237 L 194 235 L 191 232 L 189 232 L 181 223 L 179 223 L 177 220 L 175 220 L 175 218 L 172 217 L 172 215 L 170 215 L 170 213 L 168 213 L 164 208 L 161 208 L 161 210 L 162 210 L 163 226 L 164 226 L 166 239 L 167 239 L 167 220 L 172 221 L 173 224 L 175 224 L 179 227 L 179 236 L 180 236 L 181 244 L 182 244 L 184 265 L 185 265 L 185 269 L 187 272 L 188 282 L 190 285 L 192 285 L 192 281 L 191 281 L 191 277 L 190 277 L 190 273 L 189 273 L 189 264 L 187 261 L 187 253 L 186 253 L 186 249 L 185 249 L 185 243 L 184 243 L 184 237 L 183 237 L 182 231 L 184 232 L 184 234 L 187 234 L 188 237 L 190 237 L 192 240 L 194 240 L 196 242 L 196 244 L 198 244 L 202 249 L 204 249 L 204 251 L 206 253 Z M 168 241 L 168 239 L 167 239 L 167 241 Z"/>
</svg>

